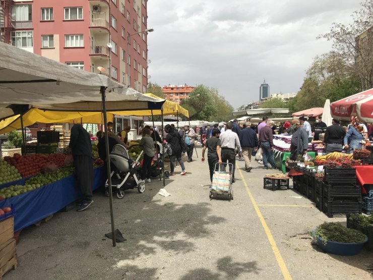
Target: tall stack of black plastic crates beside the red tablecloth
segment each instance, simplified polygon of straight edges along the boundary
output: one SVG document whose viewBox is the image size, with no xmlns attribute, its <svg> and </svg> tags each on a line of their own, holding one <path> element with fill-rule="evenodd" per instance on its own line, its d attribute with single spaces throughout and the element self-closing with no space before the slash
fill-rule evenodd
<svg viewBox="0 0 373 280">
<path fill-rule="evenodd" d="M 335 214 L 361 213 L 361 190 L 356 185 L 354 168 L 325 169 L 323 184 L 323 212 Z"/>
</svg>

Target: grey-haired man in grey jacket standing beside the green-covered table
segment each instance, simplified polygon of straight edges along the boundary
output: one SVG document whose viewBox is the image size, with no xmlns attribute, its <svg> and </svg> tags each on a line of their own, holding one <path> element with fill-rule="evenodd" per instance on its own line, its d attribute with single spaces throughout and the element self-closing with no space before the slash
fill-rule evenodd
<svg viewBox="0 0 373 280">
<path fill-rule="evenodd" d="M 296 160 L 297 154 L 306 154 L 308 148 L 308 133 L 302 128 L 300 121 L 294 119 L 291 121 L 293 134 L 290 142 L 290 159 Z"/>
</svg>

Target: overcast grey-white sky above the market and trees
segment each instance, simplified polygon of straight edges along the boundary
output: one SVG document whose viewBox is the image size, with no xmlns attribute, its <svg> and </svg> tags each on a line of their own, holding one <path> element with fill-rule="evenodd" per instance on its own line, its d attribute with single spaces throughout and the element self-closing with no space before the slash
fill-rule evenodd
<svg viewBox="0 0 373 280">
<path fill-rule="evenodd" d="M 230 104 L 297 92 L 333 22 L 349 23 L 358 0 L 150 0 L 148 75 L 160 86 L 204 84 Z"/>
</svg>

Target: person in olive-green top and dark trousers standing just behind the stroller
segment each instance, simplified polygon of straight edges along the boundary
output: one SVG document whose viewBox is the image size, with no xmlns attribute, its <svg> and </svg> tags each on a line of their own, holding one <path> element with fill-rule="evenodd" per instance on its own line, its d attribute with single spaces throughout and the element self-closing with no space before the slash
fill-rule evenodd
<svg viewBox="0 0 373 280">
<path fill-rule="evenodd" d="M 154 142 L 150 137 L 150 129 L 144 128 L 142 131 L 143 138 L 141 138 L 140 146 L 144 151 L 143 167 L 141 171 L 141 180 L 145 183 L 150 183 L 150 174 L 152 159 L 154 157 Z"/>
</svg>

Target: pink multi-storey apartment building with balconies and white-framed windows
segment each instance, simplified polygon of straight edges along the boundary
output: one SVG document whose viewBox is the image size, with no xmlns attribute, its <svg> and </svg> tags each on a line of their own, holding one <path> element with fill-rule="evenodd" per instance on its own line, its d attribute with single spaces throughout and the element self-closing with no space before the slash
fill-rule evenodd
<svg viewBox="0 0 373 280">
<path fill-rule="evenodd" d="M 147 0 L 0 3 L 0 41 L 146 92 Z"/>
</svg>

